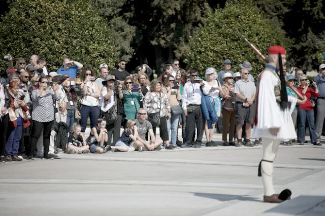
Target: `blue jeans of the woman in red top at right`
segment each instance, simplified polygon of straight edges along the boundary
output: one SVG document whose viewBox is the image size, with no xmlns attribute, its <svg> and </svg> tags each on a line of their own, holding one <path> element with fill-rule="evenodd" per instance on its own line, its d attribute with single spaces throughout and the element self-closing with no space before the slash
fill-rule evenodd
<svg viewBox="0 0 325 216">
<path fill-rule="evenodd" d="M 298 142 L 305 142 L 305 125 L 308 120 L 309 136 L 312 143 L 316 143 L 314 110 L 298 109 Z"/>
</svg>

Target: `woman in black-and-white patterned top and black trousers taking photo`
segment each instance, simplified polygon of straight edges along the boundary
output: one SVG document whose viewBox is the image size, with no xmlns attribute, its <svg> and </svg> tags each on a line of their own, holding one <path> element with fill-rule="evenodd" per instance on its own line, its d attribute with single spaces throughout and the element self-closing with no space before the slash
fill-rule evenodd
<svg viewBox="0 0 325 216">
<path fill-rule="evenodd" d="M 28 158 L 35 157 L 36 144 L 43 130 L 43 147 L 45 159 L 52 158 L 49 156 L 50 135 L 54 120 L 53 101 L 57 99 L 59 93 L 52 90 L 48 85 L 48 79 L 41 77 L 39 80 L 39 89 L 31 92 L 32 100 L 32 132 L 31 132 L 31 152 Z M 58 88 L 57 88 L 58 90 Z"/>
</svg>

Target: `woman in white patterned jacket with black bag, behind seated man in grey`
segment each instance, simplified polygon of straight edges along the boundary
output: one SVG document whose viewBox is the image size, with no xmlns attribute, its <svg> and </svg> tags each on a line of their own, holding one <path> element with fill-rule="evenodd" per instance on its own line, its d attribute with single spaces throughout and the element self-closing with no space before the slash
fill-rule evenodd
<svg viewBox="0 0 325 216">
<path fill-rule="evenodd" d="M 152 124 L 154 134 L 156 134 L 156 126 L 159 126 L 160 138 L 165 141 L 166 149 L 174 149 L 169 143 L 166 118 L 167 116 L 171 117 L 171 107 L 169 99 L 161 92 L 161 82 L 159 80 L 151 81 L 150 91 L 146 94 L 143 101 L 143 108 L 147 110 L 148 120 Z M 156 118 L 154 118 L 155 116 Z"/>
</svg>

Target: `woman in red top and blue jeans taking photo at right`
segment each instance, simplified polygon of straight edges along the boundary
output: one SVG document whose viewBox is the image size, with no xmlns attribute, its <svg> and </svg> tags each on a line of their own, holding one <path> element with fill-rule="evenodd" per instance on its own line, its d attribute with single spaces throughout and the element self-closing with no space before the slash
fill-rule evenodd
<svg viewBox="0 0 325 216">
<path fill-rule="evenodd" d="M 313 110 L 314 105 L 313 101 L 310 99 L 311 97 L 317 97 L 319 95 L 317 84 L 315 82 L 312 83 L 315 90 L 310 88 L 309 80 L 304 74 L 300 75 L 299 82 L 301 85 L 298 90 L 302 93 L 302 95 L 306 95 L 307 101 L 298 106 L 298 142 L 300 145 L 305 145 L 305 124 L 307 119 L 311 143 L 316 146 L 321 146 L 320 141 L 317 141 Z"/>
</svg>

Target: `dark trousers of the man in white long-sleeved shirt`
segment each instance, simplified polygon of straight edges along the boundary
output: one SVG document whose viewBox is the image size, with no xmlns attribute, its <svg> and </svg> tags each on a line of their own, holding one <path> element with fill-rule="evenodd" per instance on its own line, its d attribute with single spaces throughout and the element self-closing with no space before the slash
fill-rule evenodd
<svg viewBox="0 0 325 216">
<path fill-rule="evenodd" d="M 203 132 L 204 132 L 204 117 L 201 111 L 201 107 L 198 107 L 192 113 L 187 113 L 186 116 L 186 126 L 185 132 L 186 137 L 185 141 L 192 141 L 193 135 L 195 133 L 195 128 L 197 126 L 197 140 L 196 142 L 202 142 Z"/>
</svg>

